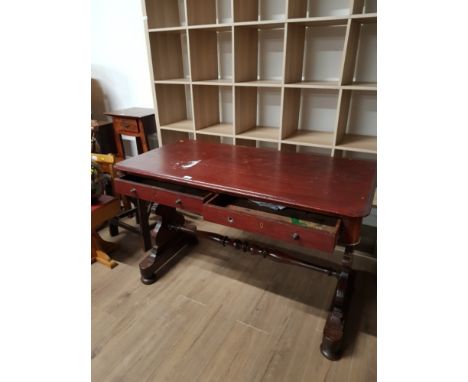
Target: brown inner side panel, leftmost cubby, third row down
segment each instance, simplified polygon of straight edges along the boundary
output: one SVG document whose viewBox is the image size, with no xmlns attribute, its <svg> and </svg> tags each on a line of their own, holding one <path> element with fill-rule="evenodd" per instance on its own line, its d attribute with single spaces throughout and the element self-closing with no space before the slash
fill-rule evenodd
<svg viewBox="0 0 468 382">
<path fill-rule="evenodd" d="M 159 123 L 167 125 L 187 119 L 184 85 L 156 85 Z"/>
</svg>

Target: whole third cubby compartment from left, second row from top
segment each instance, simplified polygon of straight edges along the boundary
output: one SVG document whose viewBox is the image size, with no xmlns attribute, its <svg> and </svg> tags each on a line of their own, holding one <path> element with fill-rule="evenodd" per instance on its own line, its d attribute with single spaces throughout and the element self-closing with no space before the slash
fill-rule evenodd
<svg viewBox="0 0 468 382">
<path fill-rule="evenodd" d="M 283 52 L 283 24 L 234 27 L 235 82 L 275 81 L 281 84 Z"/>
</svg>

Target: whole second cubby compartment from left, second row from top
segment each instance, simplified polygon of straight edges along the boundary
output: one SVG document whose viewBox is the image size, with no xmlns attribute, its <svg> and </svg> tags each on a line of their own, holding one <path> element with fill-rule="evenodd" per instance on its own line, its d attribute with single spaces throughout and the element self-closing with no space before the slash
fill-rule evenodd
<svg viewBox="0 0 468 382">
<path fill-rule="evenodd" d="M 231 28 L 191 29 L 189 38 L 192 80 L 232 82 Z"/>
</svg>

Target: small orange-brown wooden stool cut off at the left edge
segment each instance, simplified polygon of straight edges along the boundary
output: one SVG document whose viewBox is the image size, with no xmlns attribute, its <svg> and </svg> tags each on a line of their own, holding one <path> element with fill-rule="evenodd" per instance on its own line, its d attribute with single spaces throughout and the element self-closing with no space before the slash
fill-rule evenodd
<svg viewBox="0 0 468 382">
<path fill-rule="evenodd" d="M 98 201 L 91 205 L 91 263 L 99 261 L 111 269 L 117 265 L 107 252 L 117 249 L 118 245 L 103 240 L 97 233 L 97 229 L 119 212 L 119 199 L 109 195 L 101 195 Z"/>
</svg>

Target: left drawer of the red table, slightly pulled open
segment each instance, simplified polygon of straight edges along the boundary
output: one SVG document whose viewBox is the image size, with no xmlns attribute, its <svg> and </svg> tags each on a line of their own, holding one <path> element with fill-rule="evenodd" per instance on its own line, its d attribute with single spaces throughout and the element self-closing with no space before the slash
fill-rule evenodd
<svg viewBox="0 0 468 382">
<path fill-rule="evenodd" d="M 126 175 L 114 180 L 115 191 L 149 202 L 201 214 L 209 191 Z"/>
</svg>

